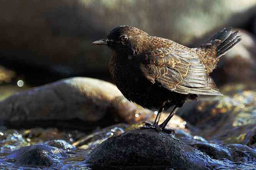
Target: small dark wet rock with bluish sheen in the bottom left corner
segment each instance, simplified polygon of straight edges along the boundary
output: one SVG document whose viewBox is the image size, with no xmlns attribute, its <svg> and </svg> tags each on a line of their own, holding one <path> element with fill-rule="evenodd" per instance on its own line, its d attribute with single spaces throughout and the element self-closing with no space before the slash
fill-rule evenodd
<svg viewBox="0 0 256 170">
<path fill-rule="evenodd" d="M 7 162 L 19 165 L 36 165 L 50 167 L 60 159 L 66 159 L 68 155 L 56 147 L 49 145 L 33 145 L 22 147 L 5 157 Z"/>
</svg>

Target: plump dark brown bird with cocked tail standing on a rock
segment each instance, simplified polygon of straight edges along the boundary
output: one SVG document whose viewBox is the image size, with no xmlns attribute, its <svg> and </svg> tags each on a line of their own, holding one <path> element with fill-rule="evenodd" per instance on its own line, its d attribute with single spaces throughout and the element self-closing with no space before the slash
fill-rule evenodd
<svg viewBox="0 0 256 170">
<path fill-rule="evenodd" d="M 109 70 L 126 99 L 149 110 L 158 110 L 149 128 L 173 132 L 166 125 L 186 100 L 198 95 L 223 95 L 209 76 L 221 56 L 241 41 L 239 30 L 224 28 L 198 48 L 150 36 L 133 26 L 118 26 L 106 38 L 94 41 L 111 49 Z M 163 110 L 173 107 L 159 123 Z"/>
</svg>

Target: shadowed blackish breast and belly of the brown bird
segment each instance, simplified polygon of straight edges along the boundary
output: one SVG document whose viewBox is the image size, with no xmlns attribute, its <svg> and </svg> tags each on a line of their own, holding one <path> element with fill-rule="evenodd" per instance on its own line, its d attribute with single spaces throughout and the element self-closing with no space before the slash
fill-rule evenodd
<svg viewBox="0 0 256 170">
<path fill-rule="evenodd" d="M 109 67 L 111 77 L 125 98 L 144 108 L 159 109 L 165 104 L 164 108 L 167 109 L 187 97 L 150 82 L 142 74 L 140 62 L 131 57 L 121 60 L 112 56 Z"/>
</svg>

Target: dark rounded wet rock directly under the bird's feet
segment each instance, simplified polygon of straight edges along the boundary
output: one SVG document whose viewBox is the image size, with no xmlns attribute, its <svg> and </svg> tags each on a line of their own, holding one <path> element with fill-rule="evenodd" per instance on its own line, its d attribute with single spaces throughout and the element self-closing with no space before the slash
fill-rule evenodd
<svg viewBox="0 0 256 170">
<path fill-rule="evenodd" d="M 152 129 L 134 129 L 111 137 L 96 147 L 87 163 L 118 167 L 168 166 L 205 169 L 211 159 L 179 139 Z"/>
</svg>

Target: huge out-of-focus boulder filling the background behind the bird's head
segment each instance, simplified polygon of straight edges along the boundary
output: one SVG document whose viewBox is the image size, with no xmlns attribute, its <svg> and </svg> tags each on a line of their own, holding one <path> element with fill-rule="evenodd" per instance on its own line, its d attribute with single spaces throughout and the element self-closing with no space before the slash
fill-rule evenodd
<svg viewBox="0 0 256 170">
<path fill-rule="evenodd" d="M 30 65 L 65 75 L 108 75 L 110 50 L 99 50 L 91 42 L 116 26 L 133 25 L 154 36 L 188 43 L 216 28 L 246 25 L 254 6 L 254 0 L 1 1 L 0 60 L 17 68 Z"/>
</svg>

